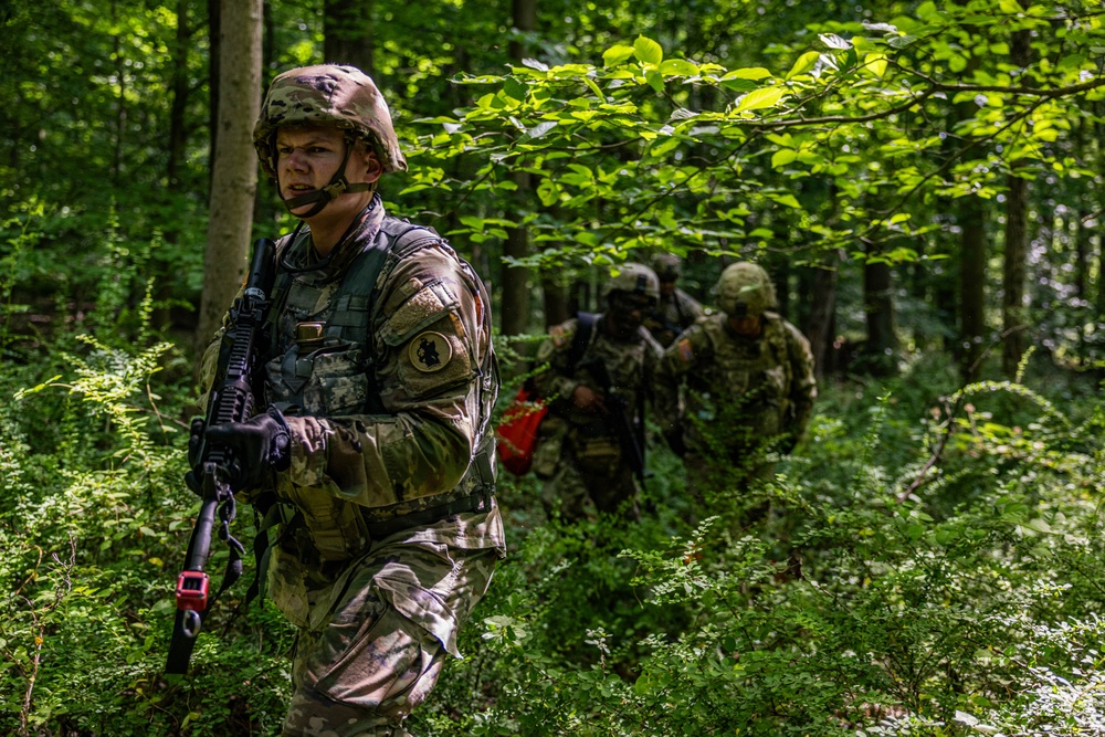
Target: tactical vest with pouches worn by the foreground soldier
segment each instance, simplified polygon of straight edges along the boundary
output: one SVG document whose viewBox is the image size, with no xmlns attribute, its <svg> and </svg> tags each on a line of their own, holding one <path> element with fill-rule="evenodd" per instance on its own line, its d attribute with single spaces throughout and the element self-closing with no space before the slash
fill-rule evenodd
<svg viewBox="0 0 1105 737">
<path fill-rule="evenodd" d="M 278 271 L 273 289 L 277 302 L 270 313 L 271 359 L 265 368 L 269 401 L 285 413 L 335 417 L 385 412 L 373 380 L 373 336 L 369 335 L 376 285 L 389 264 L 441 239 L 430 229 L 394 218 L 382 220 L 380 233 L 385 238 L 375 236 L 372 248 L 357 254 L 338 277 L 311 278 L 308 273 L 306 278 L 296 280 L 287 269 Z M 306 248 L 306 234 L 295 242 L 283 239 L 277 245 L 277 263 L 288 250 Z M 483 283 L 475 274 L 471 276 L 484 304 L 490 304 Z M 440 296 L 450 304 L 448 295 Z M 494 488 L 494 433 L 487 425 L 498 379 L 492 350 L 480 370 L 483 434 L 472 465 L 456 487 L 409 504 L 375 508 L 345 501 L 333 489 L 283 483 L 281 496 L 292 499 L 298 514 L 293 517 L 287 509 L 282 512 L 287 528 L 282 540 L 298 548 L 301 555 L 345 560 L 397 525 L 432 524 L 449 514 L 471 510 L 461 507 L 474 494 L 490 497 Z M 309 548 L 314 548 L 309 554 L 303 541 L 286 539 L 288 534 L 295 537 L 304 531 L 309 536 Z"/>
</svg>

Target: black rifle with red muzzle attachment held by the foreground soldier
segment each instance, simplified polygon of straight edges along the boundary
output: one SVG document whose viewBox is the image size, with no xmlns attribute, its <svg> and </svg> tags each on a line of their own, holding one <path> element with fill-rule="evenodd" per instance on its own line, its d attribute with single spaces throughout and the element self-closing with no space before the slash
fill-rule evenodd
<svg viewBox="0 0 1105 737">
<path fill-rule="evenodd" d="M 230 327 L 220 351 L 219 379 L 208 400 L 206 427 L 223 422 L 244 422 L 253 415 L 255 373 L 260 368 L 259 350 L 264 344 L 265 319 L 269 314 L 269 293 L 276 278 L 276 244 L 259 238 L 253 244 L 253 257 L 245 288 L 230 310 Z M 229 345 L 229 350 L 225 348 Z M 222 445 L 204 443 L 200 451 L 197 480 L 202 498 L 192 537 L 188 543 L 185 569 L 177 579 L 177 619 L 172 625 L 172 641 L 166 673 L 183 674 L 192 656 L 196 636 L 203 625 L 203 617 L 219 596 L 242 575 L 242 554 L 245 548 L 230 534 L 230 523 L 236 516 L 234 493 L 228 481 L 229 470 L 238 461 L 233 452 Z M 203 572 L 211 552 L 211 533 L 215 510 L 219 512 L 219 537 L 230 547 L 230 562 L 223 575 L 219 592 L 208 599 L 210 582 Z"/>
</svg>

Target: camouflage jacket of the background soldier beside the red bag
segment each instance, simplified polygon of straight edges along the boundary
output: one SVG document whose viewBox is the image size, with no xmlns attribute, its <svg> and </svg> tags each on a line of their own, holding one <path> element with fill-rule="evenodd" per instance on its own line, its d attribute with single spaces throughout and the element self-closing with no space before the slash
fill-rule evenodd
<svg viewBox="0 0 1105 737">
<path fill-rule="evenodd" d="M 534 388 L 546 399 L 551 399 L 549 411 L 566 420 L 570 427 L 587 428 L 591 436 L 600 434 L 603 425 L 602 415 L 579 411 L 571 401 L 576 387 L 586 385 L 597 391 L 604 391 L 594 372 L 588 369 L 591 361 L 600 361 L 607 368 L 613 391 L 625 401 L 633 412 L 630 418 L 640 422 L 638 408 L 652 402 L 652 385 L 660 360 L 661 347 L 643 327 L 630 340 L 614 340 L 606 335 L 602 317 L 591 330 L 590 340 L 580 355 L 579 361 L 571 366 L 572 341 L 579 327 L 575 317 L 555 326 L 549 330 L 549 337 L 537 349 L 537 362 L 548 364 L 548 370 L 534 377 Z M 612 434 L 612 431 L 608 434 Z"/>
</svg>

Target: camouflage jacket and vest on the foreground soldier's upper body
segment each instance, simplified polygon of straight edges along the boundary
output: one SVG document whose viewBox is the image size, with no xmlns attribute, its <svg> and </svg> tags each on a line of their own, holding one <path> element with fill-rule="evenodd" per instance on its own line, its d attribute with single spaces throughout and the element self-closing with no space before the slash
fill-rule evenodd
<svg viewBox="0 0 1105 737">
<path fill-rule="evenodd" d="M 379 199 L 361 218 L 319 263 L 309 229 L 277 244 L 259 411 L 266 402 L 282 409 L 292 460 L 275 477 L 283 523 L 269 579 L 274 602 L 301 627 L 322 621 L 344 561 L 379 543 L 370 526 L 490 495 L 494 485 L 488 424 L 498 370 L 486 291 L 442 239 L 386 217 Z M 375 286 L 350 288 L 362 259 L 380 249 Z M 318 328 L 304 331 L 305 324 Z M 209 350 L 206 366 L 213 362 Z M 404 555 L 433 566 L 442 545 L 505 551 L 490 506 L 404 530 Z M 397 583 L 393 599 L 451 645 L 449 612 L 430 612 L 430 597 Z"/>
</svg>

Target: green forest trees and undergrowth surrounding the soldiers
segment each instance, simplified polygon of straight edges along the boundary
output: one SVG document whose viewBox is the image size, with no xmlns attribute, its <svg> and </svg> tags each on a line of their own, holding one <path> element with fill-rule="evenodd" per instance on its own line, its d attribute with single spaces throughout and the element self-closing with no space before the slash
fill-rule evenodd
<svg viewBox="0 0 1105 737">
<path fill-rule="evenodd" d="M 409 151 L 389 208 L 492 284 L 512 381 L 661 250 L 707 303 L 725 263 L 767 266 L 821 380 L 810 439 L 695 527 L 662 444 L 629 527 L 505 476 L 511 557 L 414 734 L 1105 734 L 1103 15 L 0 2 L 0 733 L 278 731 L 294 634 L 244 585 L 192 675 L 162 670 L 200 305 L 240 278 L 209 215 L 291 225 L 269 185 L 212 176 L 219 91 L 341 60 Z M 227 63 L 239 32 L 260 43 Z"/>
</svg>

